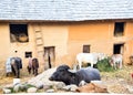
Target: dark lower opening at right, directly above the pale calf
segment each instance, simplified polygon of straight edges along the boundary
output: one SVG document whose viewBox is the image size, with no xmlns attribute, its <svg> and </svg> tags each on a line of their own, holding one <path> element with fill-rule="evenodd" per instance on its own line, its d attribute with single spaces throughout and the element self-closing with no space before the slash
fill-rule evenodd
<svg viewBox="0 0 133 95">
<path fill-rule="evenodd" d="M 123 54 L 123 48 L 124 48 L 124 43 L 123 44 L 114 44 L 113 54 Z"/>
</svg>

